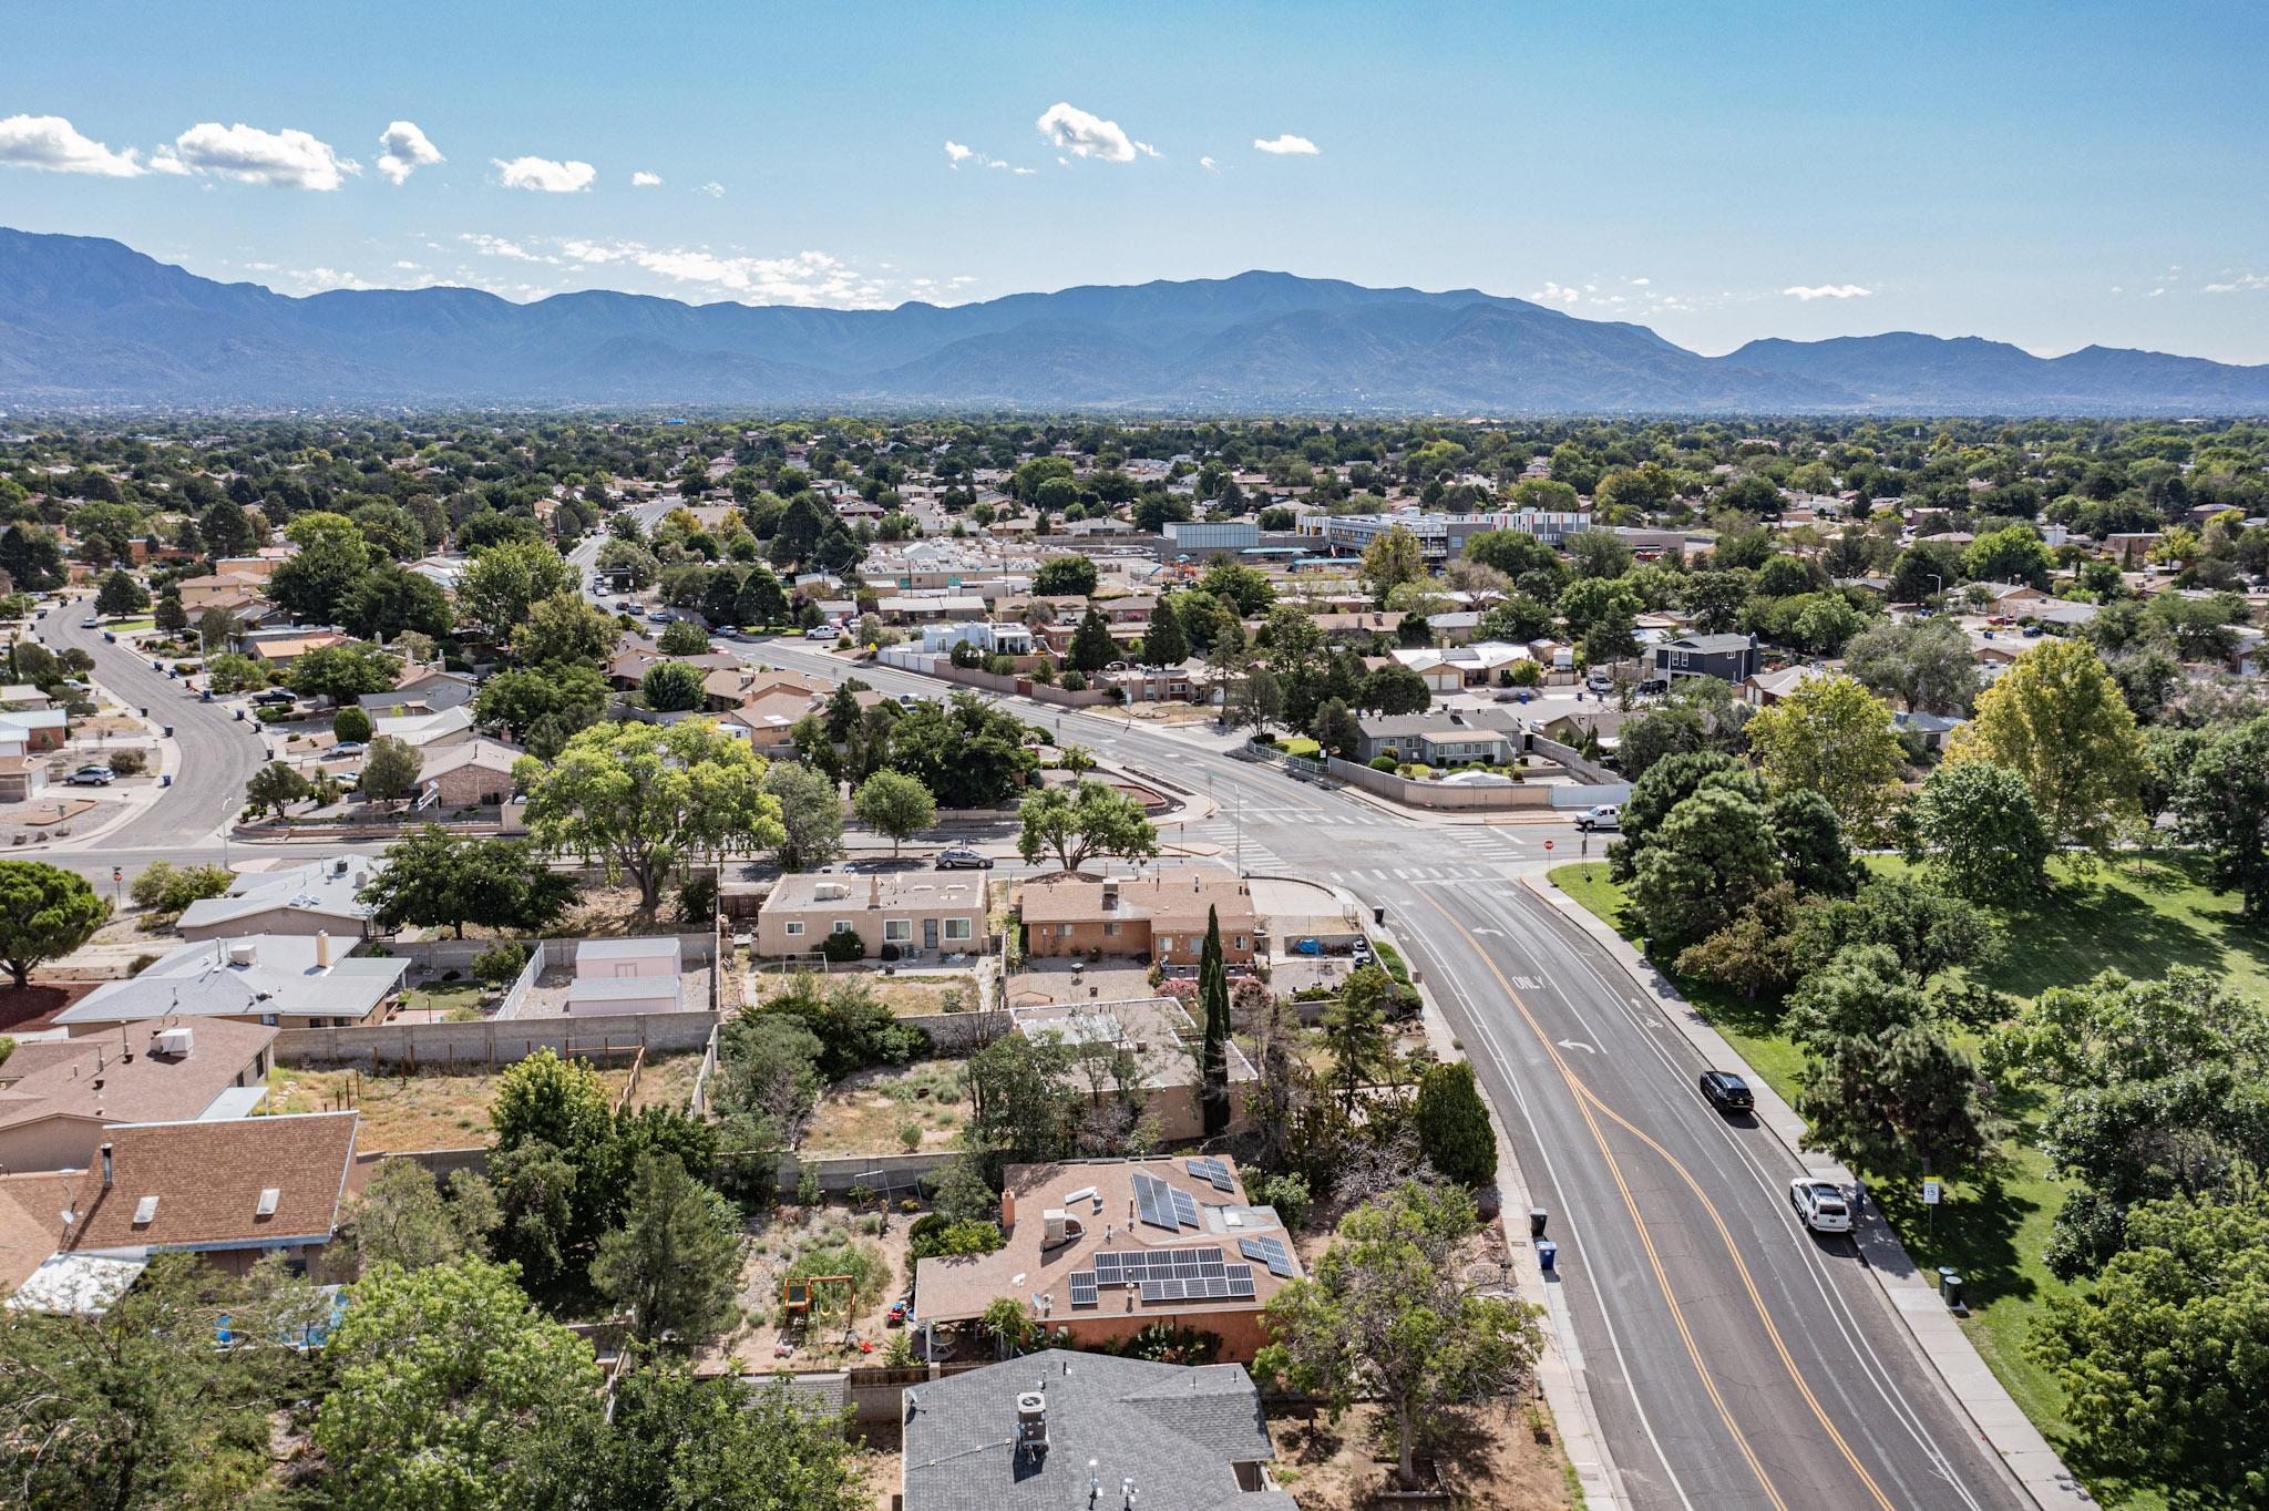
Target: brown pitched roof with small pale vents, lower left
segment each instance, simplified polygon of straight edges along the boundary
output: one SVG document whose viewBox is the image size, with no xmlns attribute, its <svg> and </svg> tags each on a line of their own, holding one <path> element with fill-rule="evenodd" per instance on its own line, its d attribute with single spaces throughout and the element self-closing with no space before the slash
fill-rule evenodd
<svg viewBox="0 0 2269 1511">
<path fill-rule="evenodd" d="M 204 1028 L 204 1023 L 200 1023 Z M 359 1112 L 302 1112 L 231 1123 L 129 1123 L 109 1130 L 102 1162 L 77 1177 L 73 1252 L 238 1248 L 329 1241 L 354 1168 Z M 259 1216 L 263 1191 L 272 1216 Z M 150 1218 L 134 1218 L 157 1198 Z"/>
</svg>

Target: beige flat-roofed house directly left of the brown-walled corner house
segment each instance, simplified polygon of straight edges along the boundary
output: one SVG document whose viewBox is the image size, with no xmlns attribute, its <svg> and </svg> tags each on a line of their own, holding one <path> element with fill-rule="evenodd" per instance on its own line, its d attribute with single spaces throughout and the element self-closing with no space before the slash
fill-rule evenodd
<svg viewBox="0 0 2269 1511">
<path fill-rule="evenodd" d="M 858 935 L 867 960 L 982 955 L 982 871 L 783 876 L 756 914 L 756 953 L 810 955 L 828 935 Z"/>
</svg>

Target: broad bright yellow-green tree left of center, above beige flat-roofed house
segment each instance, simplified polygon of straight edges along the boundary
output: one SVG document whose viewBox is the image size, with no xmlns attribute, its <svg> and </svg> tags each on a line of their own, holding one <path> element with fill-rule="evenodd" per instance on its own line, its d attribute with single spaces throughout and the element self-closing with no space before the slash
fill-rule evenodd
<svg viewBox="0 0 2269 1511">
<path fill-rule="evenodd" d="M 747 744 L 703 719 L 599 724 L 551 765 L 522 758 L 513 769 L 535 842 L 604 860 L 608 878 L 638 885 L 647 912 L 681 860 L 781 842 L 781 805 L 758 787 L 762 774 Z"/>
</svg>

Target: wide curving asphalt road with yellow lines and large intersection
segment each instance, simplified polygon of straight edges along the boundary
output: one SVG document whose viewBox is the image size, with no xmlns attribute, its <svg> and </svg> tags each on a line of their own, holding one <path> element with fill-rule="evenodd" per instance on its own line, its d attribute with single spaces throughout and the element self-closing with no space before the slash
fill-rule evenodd
<svg viewBox="0 0 2269 1511">
<path fill-rule="evenodd" d="M 846 672 L 801 642 L 744 653 Z M 937 692 L 903 672 L 858 676 L 883 692 Z M 1702 1100 L 1704 1066 L 1686 1039 L 1518 880 L 1575 858 L 1572 826 L 1423 824 L 1123 717 L 1064 712 L 1060 728 L 1209 790 L 1221 812 L 1193 833 L 1241 849 L 1248 871 L 1332 880 L 1386 908 L 1550 1212 L 1570 1366 L 1636 1511 L 2028 1504 L 1849 1239 L 1797 1225 L 1797 1162 L 1752 1119 Z"/>
</svg>

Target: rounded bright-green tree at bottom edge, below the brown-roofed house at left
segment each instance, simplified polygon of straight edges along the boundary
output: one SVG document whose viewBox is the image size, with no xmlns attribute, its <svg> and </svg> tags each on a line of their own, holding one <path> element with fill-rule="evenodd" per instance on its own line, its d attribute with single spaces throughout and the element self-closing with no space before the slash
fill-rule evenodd
<svg viewBox="0 0 2269 1511">
<path fill-rule="evenodd" d="M 601 1400 L 590 1343 L 481 1259 L 368 1275 L 324 1357 L 315 1443 L 347 1511 L 538 1504 L 547 1454 Z"/>
</svg>

